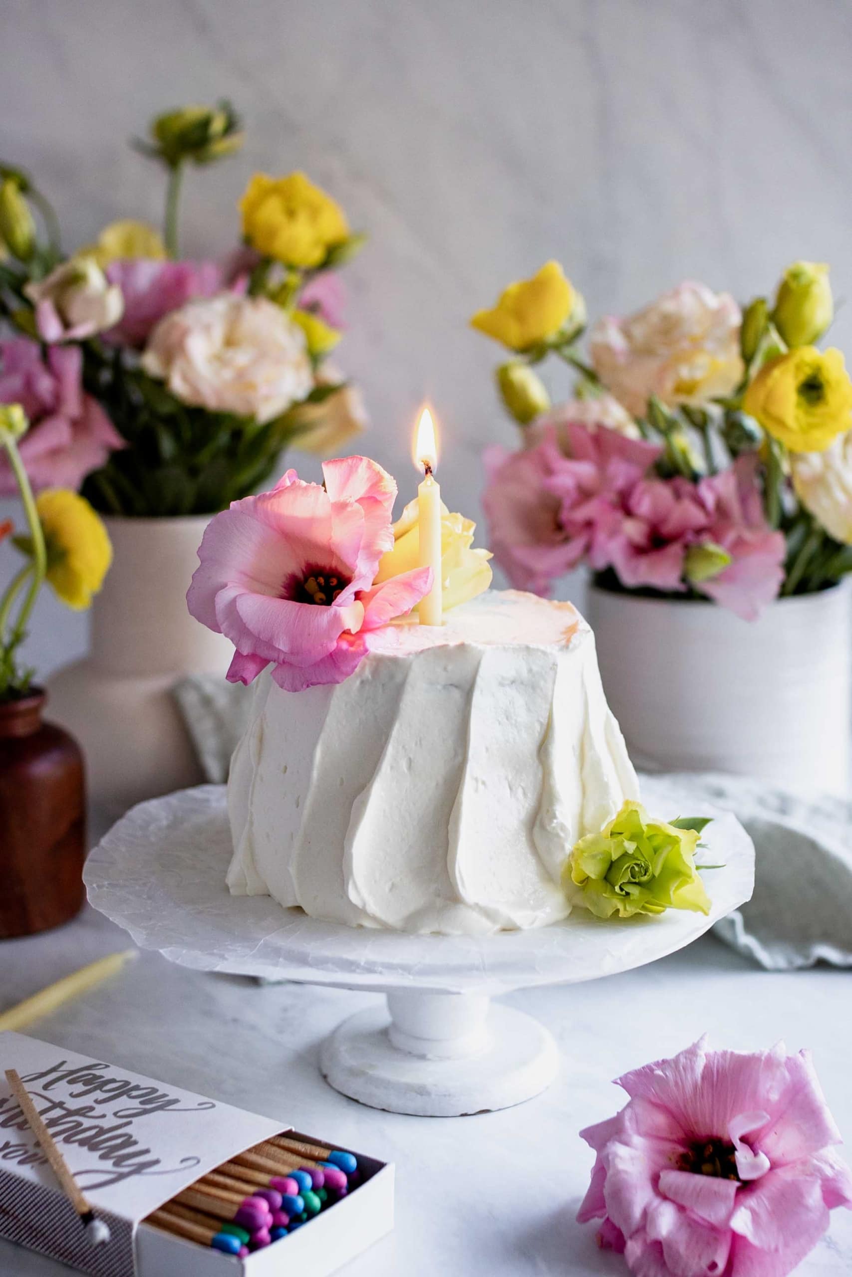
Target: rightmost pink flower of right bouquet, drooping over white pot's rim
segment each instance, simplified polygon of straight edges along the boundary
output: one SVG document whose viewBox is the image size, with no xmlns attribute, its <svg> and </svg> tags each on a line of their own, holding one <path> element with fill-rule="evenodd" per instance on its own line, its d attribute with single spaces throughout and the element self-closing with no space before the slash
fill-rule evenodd
<svg viewBox="0 0 852 1277">
<path fill-rule="evenodd" d="M 708 512 L 706 540 L 720 545 L 732 563 L 697 589 L 743 621 L 755 621 L 778 598 L 784 580 L 787 541 L 766 524 L 757 487 L 757 458 L 738 457 L 729 470 L 701 479 Z"/>
</svg>

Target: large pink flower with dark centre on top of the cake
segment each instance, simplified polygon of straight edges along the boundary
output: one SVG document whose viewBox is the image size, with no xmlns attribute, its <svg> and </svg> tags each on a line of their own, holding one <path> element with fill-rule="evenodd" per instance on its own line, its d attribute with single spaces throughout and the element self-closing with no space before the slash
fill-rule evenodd
<svg viewBox="0 0 852 1277">
<path fill-rule="evenodd" d="M 204 531 L 186 603 L 236 647 L 232 683 L 250 683 L 270 663 L 289 692 L 340 683 L 432 589 L 430 568 L 373 585 L 393 545 L 393 479 L 367 457 L 322 469 L 324 487 L 289 470 Z"/>
</svg>

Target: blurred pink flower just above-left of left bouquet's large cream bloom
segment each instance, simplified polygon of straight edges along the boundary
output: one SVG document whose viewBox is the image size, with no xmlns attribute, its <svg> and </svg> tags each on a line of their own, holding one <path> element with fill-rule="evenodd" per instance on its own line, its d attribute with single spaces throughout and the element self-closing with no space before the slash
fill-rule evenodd
<svg viewBox="0 0 852 1277">
<path fill-rule="evenodd" d="M 162 262 L 137 257 L 111 262 L 106 277 L 120 287 L 124 314 L 103 333 L 116 346 L 144 346 L 157 323 L 193 298 L 212 298 L 225 286 L 225 271 L 216 262 Z M 240 280 L 236 291 L 245 290 Z"/>
</svg>

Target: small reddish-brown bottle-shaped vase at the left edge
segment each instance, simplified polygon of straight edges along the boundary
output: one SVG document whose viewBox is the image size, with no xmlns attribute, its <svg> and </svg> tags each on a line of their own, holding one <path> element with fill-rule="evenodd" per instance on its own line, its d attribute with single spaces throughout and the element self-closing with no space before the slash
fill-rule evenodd
<svg viewBox="0 0 852 1277">
<path fill-rule="evenodd" d="M 45 693 L 0 704 L 0 939 L 68 922 L 82 908 L 83 755 L 54 723 Z"/>
</svg>

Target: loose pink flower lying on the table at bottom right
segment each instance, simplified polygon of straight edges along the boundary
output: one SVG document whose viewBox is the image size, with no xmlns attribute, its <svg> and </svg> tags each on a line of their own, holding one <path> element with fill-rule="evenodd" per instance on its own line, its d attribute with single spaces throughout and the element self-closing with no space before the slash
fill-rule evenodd
<svg viewBox="0 0 852 1277">
<path fill-rule="evenodd" d="M 637 1277 L 786 1277 L 852 1205 L 807 1051 L 703 1038 L 617 1083 L 625 1108 L 580 1133 L 597 1160 L 577 1220 Z"/>
</svg>

